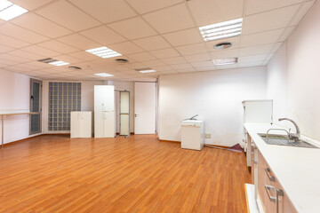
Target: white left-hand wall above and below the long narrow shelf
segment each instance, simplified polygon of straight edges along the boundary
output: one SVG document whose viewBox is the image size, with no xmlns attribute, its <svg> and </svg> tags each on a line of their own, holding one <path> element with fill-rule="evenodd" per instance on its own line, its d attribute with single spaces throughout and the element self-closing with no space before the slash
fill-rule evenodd
<svg viewBox="0 0 320 213">
<path fill-rule="evenodd" d="M 0 69 L 0 111 L 29 111 L 29 97 L 30 78 L 27 75 L 20 75 Z M 28 137 L 29 116 L 27 114 L 5 115 L 4 143 Z"/>
</svg>

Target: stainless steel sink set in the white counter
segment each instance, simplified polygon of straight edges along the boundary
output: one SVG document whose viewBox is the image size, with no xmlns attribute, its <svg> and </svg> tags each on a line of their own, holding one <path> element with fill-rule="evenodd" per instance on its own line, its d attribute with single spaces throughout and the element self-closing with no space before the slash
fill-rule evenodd
<svg viewBox="0 0 320 213">
<path fill-rule="evenodd" d="M 316 146 L 313 146 L 306 141 L 299 140 L 294 141 L 292 139 L 289 139 L 288 136 L 285 135 L 275 135 L 275 134 L 264 134 L 259 133 L 258 134 L 260 138 L 262 138 L 268 145 L 279 145 L 279 146 L 297 146 L 297 147 L 305 147 L 305 148 L 318 148 Z"/>
</svg>

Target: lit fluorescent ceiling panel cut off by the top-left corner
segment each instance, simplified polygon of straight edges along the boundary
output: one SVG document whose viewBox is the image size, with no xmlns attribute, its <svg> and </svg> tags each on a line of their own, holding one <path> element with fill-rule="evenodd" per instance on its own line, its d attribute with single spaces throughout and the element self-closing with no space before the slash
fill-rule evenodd
<svg viewBox="0 0 320 213">
<path fill-rule="evenodd" d="M 12 20 L 24 13 L 28 12 L 26 9 L 12 4 L 7 0 L 0 0 L 0 19 L 1 20 Z"/>
</svg>

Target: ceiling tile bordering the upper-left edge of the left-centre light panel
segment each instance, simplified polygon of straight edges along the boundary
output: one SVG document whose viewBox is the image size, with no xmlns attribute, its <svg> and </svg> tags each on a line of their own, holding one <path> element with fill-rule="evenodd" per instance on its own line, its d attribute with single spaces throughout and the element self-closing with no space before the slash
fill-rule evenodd
<svg viewBox="0 0 320 213">
<path fill-rule="evenodd" d="M 57 40 L 61 43 L 67 43 L 81 50 L 89 50 L 100 46 L 99 43 L 95 43 L 92 40 L 78 34 L 60 37 Z"/>
</svg>

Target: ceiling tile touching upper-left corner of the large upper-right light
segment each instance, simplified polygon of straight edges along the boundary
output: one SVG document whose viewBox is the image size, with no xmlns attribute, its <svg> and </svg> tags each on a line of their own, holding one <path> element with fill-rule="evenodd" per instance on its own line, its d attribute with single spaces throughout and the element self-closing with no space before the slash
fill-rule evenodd
<svg viewBox="0 0 320 213">
<path fill-rule="evenodd" d="M 168 33 L 195 26 L 185 4 L 177 4 L 160 11 L 143 15 L 159 33 Z"/>
</svg>

